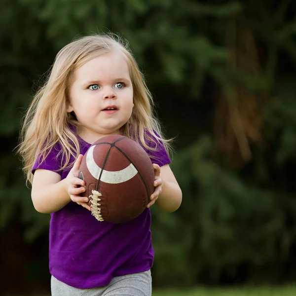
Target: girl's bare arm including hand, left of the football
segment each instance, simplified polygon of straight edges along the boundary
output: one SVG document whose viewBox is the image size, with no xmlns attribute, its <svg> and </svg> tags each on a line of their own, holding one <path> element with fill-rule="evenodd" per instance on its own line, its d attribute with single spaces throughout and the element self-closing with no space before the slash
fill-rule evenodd
<svg viewBox="0 0 296 296">
<path fill-rule="evenodd" d="M 80 154 L 66 179 L 53 171 L 37 169 L 32 184 L 32 201 L 35 209 L 44 214 L 56 212 L 65 207 L 71 200 L 91 211 L 88 197 L 79 196 L 85 191 L 83 180 L 78 178 Z M 81 187 L 78 187 L 81 185 Z"/>
</svg>

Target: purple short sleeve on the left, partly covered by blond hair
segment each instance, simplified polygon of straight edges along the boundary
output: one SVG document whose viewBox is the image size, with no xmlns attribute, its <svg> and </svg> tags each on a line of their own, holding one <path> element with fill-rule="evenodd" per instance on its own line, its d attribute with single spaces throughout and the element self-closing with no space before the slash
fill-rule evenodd
<svg viewBox="0 0 296 296">
<path fill-rule="evenodd" d="M 45 157 L 45 159 L 41 157 L 37 157 L 37 160 L 32 168 L 32 174 L 35 173 L 37 169 L 44 169 L 56 172 L 62 176 L 61 168 L 61 151 L 60 145 L 56 144 L 49 152 L 49 154 Z"/>
</svg>

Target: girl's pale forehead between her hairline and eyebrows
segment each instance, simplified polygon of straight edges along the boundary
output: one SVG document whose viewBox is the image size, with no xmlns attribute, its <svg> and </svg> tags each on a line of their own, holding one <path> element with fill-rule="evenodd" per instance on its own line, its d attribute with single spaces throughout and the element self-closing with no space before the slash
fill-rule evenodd
<svg viewBox="0 0 296 296">
<path fill-rule="evenodd" d="M 129 67 L 122 52 L 111 51 L 87 61 L 74 71 L 75 80 L 129 78 Z"/>
</svg>

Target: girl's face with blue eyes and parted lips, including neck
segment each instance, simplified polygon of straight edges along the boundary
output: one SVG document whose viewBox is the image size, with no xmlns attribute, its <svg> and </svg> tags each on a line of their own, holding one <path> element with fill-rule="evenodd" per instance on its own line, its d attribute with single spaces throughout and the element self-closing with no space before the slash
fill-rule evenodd
<svg viewBox="0 0 296 296">
<path fill-rule="evenodd" d="M 89 143 L 119 129 L 133 110 L 133 86 L 120 52 L 98 56 L 74 72 L 67 112 L 83 126 L 80 137 Z"/>
</svg>

